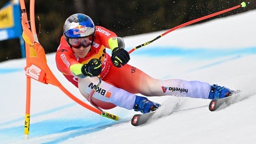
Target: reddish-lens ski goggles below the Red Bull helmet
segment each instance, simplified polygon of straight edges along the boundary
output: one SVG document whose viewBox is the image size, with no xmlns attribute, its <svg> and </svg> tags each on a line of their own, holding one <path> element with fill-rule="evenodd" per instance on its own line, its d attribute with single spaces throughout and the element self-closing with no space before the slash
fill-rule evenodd
<svg viewBox="0 0 256 144">
<path fill-rule="evenodd" d="M 91 40 L 90 37 L 86 38 L 70 38 L 69 39 L 69 44 L 76 48 L 79 49 L 81 46 L 83 47 L 89 47 L 91 45 Z"/>
</svg>

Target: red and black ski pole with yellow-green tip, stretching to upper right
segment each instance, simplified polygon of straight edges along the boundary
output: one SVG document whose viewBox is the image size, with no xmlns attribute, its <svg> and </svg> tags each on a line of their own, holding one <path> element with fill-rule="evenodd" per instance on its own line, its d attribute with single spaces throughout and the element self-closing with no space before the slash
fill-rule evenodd
<svg viewBox="0 0 256 144">
<path fill-rule="evenodd" d="M 182 27 L 184 27 L 184 26 L 187 26 L 187 25 L 190 25 L 190 24 L 194 24 L 194 23 L 196 23 L 196 22 L 198 22 L 198 21 L 202 21 L 202 20 L 204 20 L 204 19 L 208 19 L 208 18 L 217 16 L 217 15 L 219 15 L 219 14 L 223 14 L 223 13 L 225 13 L 225 12 L 229 12 L 229 11 L 234 10 L 234 9 L 237 9 L 237 8 L 239 8 L 239 7 L 246 7 L 247 4 L 249 4 L 249 3 L 250 3 L 250 2 L 247 2 L 247 3 L 246 3 L 246 2 L 242 2 L 240 5 L 237 5 L 237 6 L 235 6 L 235 7 L 231 7 L 231 8 L 229 8 L 229 9 L 225 9 L 225 10 L 222 10 L 222 11 L 220 11 L 220 12 L 216 12 L 216 13 L 213 13 L 213 14 L 209 14 L 209 15 L 207 15 L 207 16 L 204 16 L 204 17 L 201 17 L 201 18 L 198 18 L 198 19 L 194 19 L 194 20 L 192 20 L 192 21 L 188 21 L 188 22 L 186 22 L 186 23 L 184 23 L 184 24 L 181 24 L 181 25 L 179 25 L 179 26 L 176 26 L 176 27 L 174 27 L 174 28 L 171 28 L 170 30 L 166 31 L 165 33 L 162 33 L 161 35 L 157 36 L 157 37 L 154 38 L 153 40 L 149 40 L 148 42 L 145 42 L 145 43 L 142 44 L 142 45 L 138 45 L 137 47 L 133 47 L 133 49 L 131 49 L 131 50 L 129 51 L 129 54 L 132 53 L 133 51 L 137 50 L 137 49 L 140 48 L 140 47 L 144 47 L 145 45 L 149 45 L 150 43 L 154 42 L 155 40 L 157 40 L 157 39 L 163 37 L 163 36 L 166 35 L 167 33 L 170 33 L 170 32 L 172 32 L 172 31 L 175 31 L 175 30 L 178 29 L 178 28 L 182 28 Z"/>
</svg>

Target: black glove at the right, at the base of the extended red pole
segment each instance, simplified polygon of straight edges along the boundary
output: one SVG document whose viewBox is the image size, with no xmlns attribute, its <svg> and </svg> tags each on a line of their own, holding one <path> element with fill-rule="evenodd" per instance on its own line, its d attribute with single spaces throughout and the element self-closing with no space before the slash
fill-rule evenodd
<svg viewBox="0 0 256 144">
<path fill-rule="evenodd" d="M 124 66 L 130 60 L 129 53 L 123 48 L 116 47 L 112 50 L 111 61 L 114 66 L 120 68 L 121 65 Z"/>
</svg>

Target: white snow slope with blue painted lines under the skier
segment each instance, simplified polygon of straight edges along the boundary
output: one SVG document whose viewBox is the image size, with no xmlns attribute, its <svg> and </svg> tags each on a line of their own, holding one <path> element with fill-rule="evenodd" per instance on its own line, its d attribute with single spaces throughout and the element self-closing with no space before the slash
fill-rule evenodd
<svg viewBox="0 0 256 144">
<path fill-rule="evenodd" d="M 254 144 L 256 137 L 256 11 L 211 20 L 173 31 L 131 54 L 129 64 L 154 78 L 199 80 L 242 90 L 241 101 L 220 111 L 208 109 L 209 99 L 149 97 L 163 103 L 157 115 L 133 127 L 138 112 L 107 110 L 118 122 L 73 102 L 61 90 L 35 80 L 31 84 L 30 139 L 24 140 L 26 101 L 25 59 L 0 63 L 0 144 Z M 125 37 L 126 49 L 165 31 Z M 47 64 L 71 93 L 79 90 L 57 70 L 55 54 Z M 175 104 L 177 111 L 170 114 Z"/>
</svg>

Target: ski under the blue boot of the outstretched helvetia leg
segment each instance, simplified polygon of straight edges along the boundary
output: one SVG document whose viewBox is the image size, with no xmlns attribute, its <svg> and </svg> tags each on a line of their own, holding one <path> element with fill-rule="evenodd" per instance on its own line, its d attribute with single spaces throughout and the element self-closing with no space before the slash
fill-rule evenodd
<svg viewBox="0 0 256 144">
<path fill-rule="evenodd" d="M 211 100 L 210 104 L 209 104 L 209 110 L 210 111 L 216 111 L 219 109 L 223 109 L 227 106 L 229 106 L 230 104 L 233 104 L 236 102 L 236 99 L 239 97 L 239 92 L 236 94 L 233 94 L 229 97 L 225 97 L 222 99 L 213 99 Z"/>
</svg>

